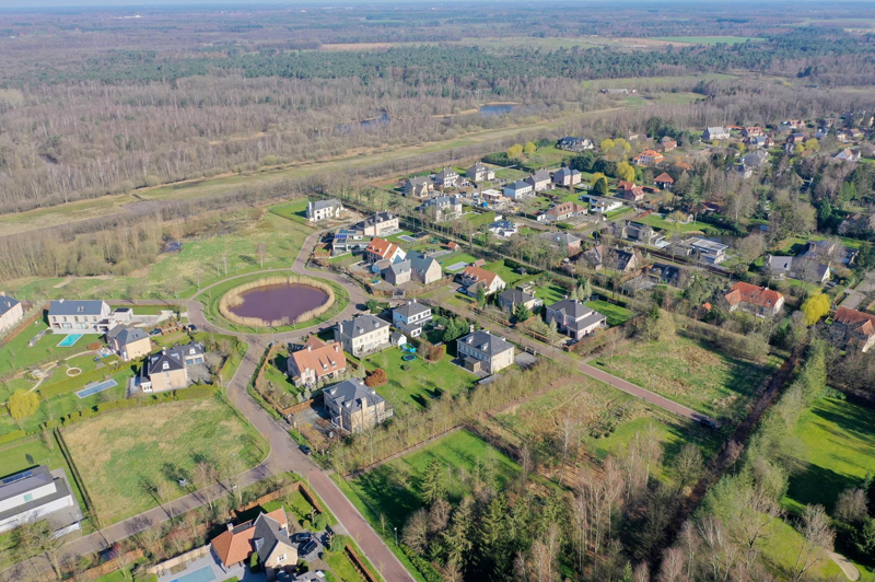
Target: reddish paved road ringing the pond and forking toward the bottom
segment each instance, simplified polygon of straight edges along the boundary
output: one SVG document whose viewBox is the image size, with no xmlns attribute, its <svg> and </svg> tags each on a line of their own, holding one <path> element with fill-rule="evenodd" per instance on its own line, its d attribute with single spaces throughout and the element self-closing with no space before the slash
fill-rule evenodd
<svg viewBox="0 0 875 582">
<path fill-rule="evenodd" d="M 180 304 L 188 310 L 189 321 L 205 330 L 212 330 L 218 334 L 234 336 L 245 341 L 248 349 L 234 377 L 228 385 L 228 397 L 231 403 L 252 422 L 255 429 L 270 444 L 270 453 L 264 463 L 254 467 L 235 479 L 235 485 L 240 488 L 258 482 L 271 475 L 287 472 L 295 472 L 306 479 L 311 488 L 322 498 L 328 509 L 337 516 L 342 529 L 348 533 L 361 547 L 364 555 L 374 564 L 387 582 L 413 582 L 413 578 L 405 569 L 398 558 L 389 550 L 383 539 L 374 532 L 371 525 L 364 520 L 359 511 L 350 503 L 346 496 L 340 491 L 331 478 L 308 456 L 301 453 L 296 443 L 289 435 L 288 427 L 282 421 L 275 420 L 261 406 L 249 396 L 246 387 L 250 379 L 255 375 L 258 361 L 267 349 L 269 340 L 293 341 L 298 338 L 318 331 L 322 328 L 330 327 L 341 319 L 346 319 L 358 312 L 360 304 L 368 298 L 364 291 L 354 282 L 340 275 L 307 268 L 307 258 L 315 245 L 319 241 L 320 233 L 313 233 L 306 238 L 298 257 L 295 258 L 292 271 L 298 275 L 312 275 L 323 279 L 329 279 L 341 284 L 349 293 L 349 305 L 342 313 L 331 319 L 317 325 L 308 326 L 294 331 L 272 335 L 255 335 L 231 331 L 210 323 L 203 315 L 203 304 L 196 298 L 205 291 L 221 284 L 228 280 L 246 277 L 253 273 L 237 275 L 229 277 L 222 281 L 212 283 L 189 299 L 179 301 L 164 300 L 133 300 L 133 301 L 113 301 L 114 304 L 130 305 L 163 305 Z M 280 269 L 270 269 L 265 273 L 280 272 Z M 226 484 L 225 484 L 226 485 Z M 78 557 L 86 554 L 100 551 L 114 543 L 125 539 L 138 532 L 163 523 L 172 516 L 195 509 L 207 503 L 208 498 L 228 494 L 230 489 L 225 485 L 215 485 L 207 490 L 194 491 L 185 497 L 154 508 L 144 513 L 107 526 L 100 532 L 74 539 L 65 546 L 69 556 Z"/>
</svg>

